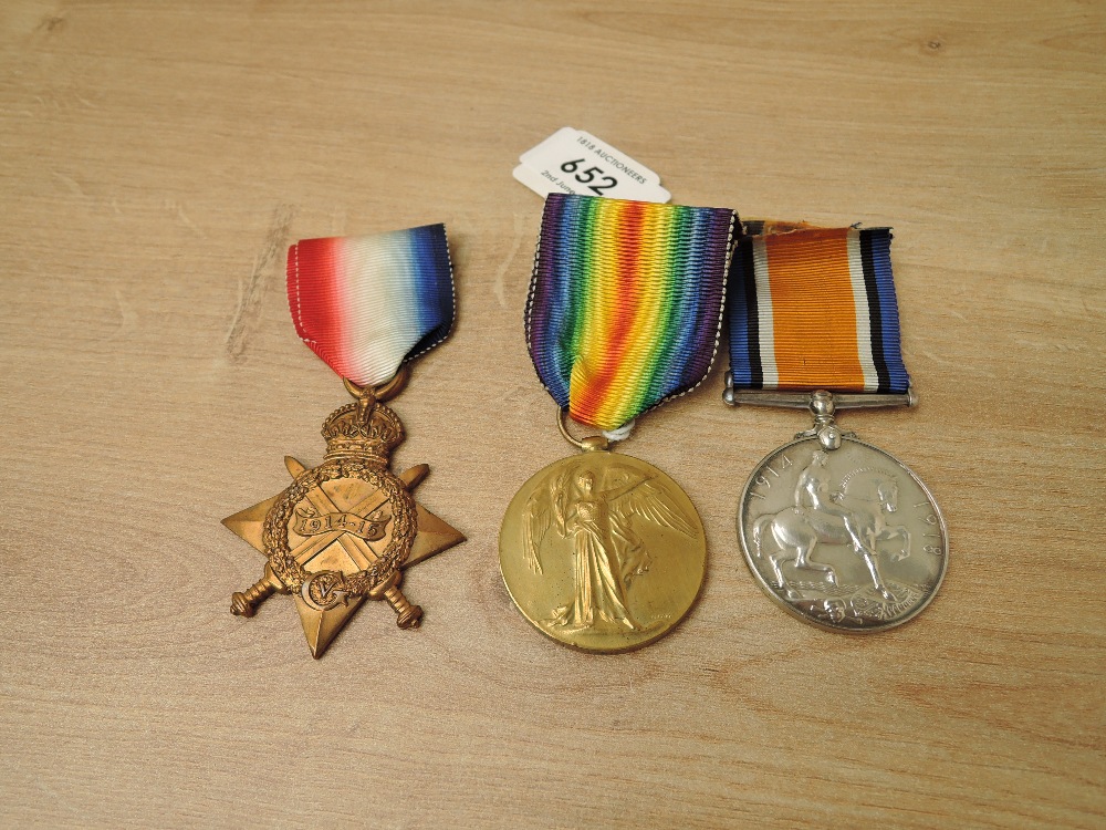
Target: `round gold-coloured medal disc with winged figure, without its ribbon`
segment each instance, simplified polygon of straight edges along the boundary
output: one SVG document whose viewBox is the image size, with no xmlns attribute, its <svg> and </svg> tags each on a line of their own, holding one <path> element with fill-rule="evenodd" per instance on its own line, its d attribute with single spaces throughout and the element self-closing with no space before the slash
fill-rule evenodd
<svg viewBox="0 0 1106 830">
<path fill-rule="evenodd" d="M 588 652 L 638 649 L 690 610 L 707 541 L 691 500 L 656 467 L 592 450 L 551 464 L 515 495 L 499 537 L 523 615 Z"/>
</svg>

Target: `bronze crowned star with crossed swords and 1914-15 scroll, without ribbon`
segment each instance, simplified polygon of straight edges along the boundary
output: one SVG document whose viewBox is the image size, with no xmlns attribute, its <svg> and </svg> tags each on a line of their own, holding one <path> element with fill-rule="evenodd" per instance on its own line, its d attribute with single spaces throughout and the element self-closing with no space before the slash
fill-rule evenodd
<svg viewBox="0 0 1106 830">
<path fill-rule="evenodd" d="M 418 627 L 422 609 L 400 590 L 403 569 L 465 541 L 411 496 L 427 465 L 398 476 L 388 469 L 404 428 L 383 402 L 407 374 L 405 366 L 377 387 L 344 380 L 355 402 L 323 424 L 323 463 L 307 468 L 285 457 L 292 485 L 223 519 L 268 559 L 262 578 L 231 596 L 231 613 L 253 616 L 272 594 L 291 594 L 315 657 L 365 599 L 387 602 L 400 629 Z"/>
</svg>

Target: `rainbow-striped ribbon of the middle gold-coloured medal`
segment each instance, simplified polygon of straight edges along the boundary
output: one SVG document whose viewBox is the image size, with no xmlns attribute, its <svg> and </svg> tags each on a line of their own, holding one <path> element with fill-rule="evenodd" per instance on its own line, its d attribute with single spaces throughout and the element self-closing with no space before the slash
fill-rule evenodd
<svg viewBox="0 0 1106 830">
<path fill-rule="evenodd" d="M 718 349 L 735 215 L 551 194 L 526 343 L 553 400 L 615 429 L 695 388 Z"/>
</svg>

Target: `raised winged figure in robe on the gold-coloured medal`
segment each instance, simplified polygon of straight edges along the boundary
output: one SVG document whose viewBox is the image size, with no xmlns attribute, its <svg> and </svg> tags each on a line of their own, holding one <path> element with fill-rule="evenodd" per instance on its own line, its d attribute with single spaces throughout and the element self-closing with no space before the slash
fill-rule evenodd
<svg viewBox="0 0 1106 830">
<path fill-rule="evenodd" d="M 589 466 L 589 465 L 588 465 Z M 597 475 L 585 463 L 553 470 L 531 495 L 523 516 L 526 563 L 542 573 L 542 549 L 550 531 L 572 539 L 575 594 L 556 609 L 553 624 L 592 627 L 598 620 L 641 631 L 626 592 L 649 570 L 651 558 L 635 532 L 635 520 L 693 536 L 691 521 L 651 479 L 612 464 Z"/>
</svg>

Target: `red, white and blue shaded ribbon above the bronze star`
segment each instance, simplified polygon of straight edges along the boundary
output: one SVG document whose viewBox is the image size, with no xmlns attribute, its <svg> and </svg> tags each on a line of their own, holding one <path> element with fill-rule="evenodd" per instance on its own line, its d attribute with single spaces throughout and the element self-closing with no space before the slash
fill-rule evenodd
<svg viewBox="0 0 1106 830">
<path fill-rule="evenodd" d="M 288 249 L 288 304 L 296 333 L 331 369 L 379 385 L 449 336 L 446 226 L 303 239 Z"/>
</svg>

